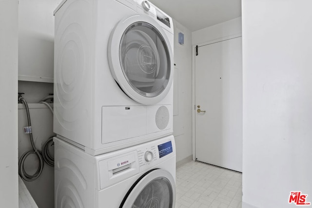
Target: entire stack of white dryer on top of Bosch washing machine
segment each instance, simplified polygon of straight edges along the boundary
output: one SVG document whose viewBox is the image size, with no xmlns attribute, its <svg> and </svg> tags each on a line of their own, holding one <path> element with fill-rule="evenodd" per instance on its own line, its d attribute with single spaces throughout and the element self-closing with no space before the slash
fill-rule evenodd
<svg viewBox="0 0 312 208">
<path fill-rule="evenodd" d="M 57 208 L 174 208 L 172 19 L 147 0 L 55 10 Z"/>
</svg>

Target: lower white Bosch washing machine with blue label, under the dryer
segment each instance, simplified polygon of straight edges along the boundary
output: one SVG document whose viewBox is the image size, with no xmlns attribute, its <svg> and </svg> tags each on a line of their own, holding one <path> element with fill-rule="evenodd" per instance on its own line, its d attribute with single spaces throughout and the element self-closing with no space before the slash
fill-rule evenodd
<svg viewBox="0 0 312 208">
<path fill-rule="evenodd" d="M 97 156 L 54 142 L 56 208 L 175 208 L 172 135 Z"/>
</svg>

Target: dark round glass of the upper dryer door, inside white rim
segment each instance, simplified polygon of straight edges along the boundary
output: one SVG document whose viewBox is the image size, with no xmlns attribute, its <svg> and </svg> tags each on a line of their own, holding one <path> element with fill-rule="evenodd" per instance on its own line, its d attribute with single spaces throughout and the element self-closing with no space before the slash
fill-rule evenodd
<svg viewBox="0 0 312 208">
<path fill-rule="evenodd" d="M 164 38 L 153 25 L 131 24 L 121 38 L 119 56 L 122 72 L 137 93 L 155 97 L 164 91 L 170 78 L 170 57 Z"/>
</svg>

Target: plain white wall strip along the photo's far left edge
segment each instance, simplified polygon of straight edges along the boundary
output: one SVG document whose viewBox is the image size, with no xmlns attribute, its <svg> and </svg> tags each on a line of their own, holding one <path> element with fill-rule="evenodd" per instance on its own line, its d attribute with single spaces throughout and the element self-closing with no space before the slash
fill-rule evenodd
<svg viewBox="0 0 312 208">
<path fill-rule="evenodd" d="M 0 71 L 0 206 L 18 208 L 17 0 L 0 0 Z"/>
</svg>

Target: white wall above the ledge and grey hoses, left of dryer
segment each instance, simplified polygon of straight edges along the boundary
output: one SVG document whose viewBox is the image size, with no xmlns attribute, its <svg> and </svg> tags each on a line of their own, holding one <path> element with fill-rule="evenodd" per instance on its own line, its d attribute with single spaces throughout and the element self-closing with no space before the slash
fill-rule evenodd
<svg viewBox="0 0 312 208">
<path fill-rule="evenodd" d="M 53 11 L 60 1 L 19 1 L 19 80 L 53 83 Z"/>
</svg>

